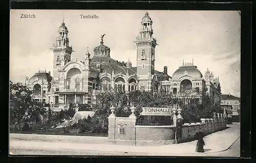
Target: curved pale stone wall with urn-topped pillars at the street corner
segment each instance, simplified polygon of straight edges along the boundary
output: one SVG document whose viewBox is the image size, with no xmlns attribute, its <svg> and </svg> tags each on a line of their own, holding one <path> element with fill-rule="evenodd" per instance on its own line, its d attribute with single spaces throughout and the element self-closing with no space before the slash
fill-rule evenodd
<svg viewBox="0 0 256 163">
<path fill-rule="evenodd" d="M 200 123 L 185 123 L 182 125 L 181 110 L 174 116 L 172 126 L 140 126 L 136 125 L 134 107 L 131 107 L 130 117 L 116 117 L 115 107 L 111 107 L 109 116 L 109 141 L 118 145 L 166 145 L 195 140 L 199 131 L 206 135 L 225 129 L 227 116 L 214 113 L 214 118 L 201 119 Z M 174 114 L 176 111 L 173 112 Z"/>
</svg>

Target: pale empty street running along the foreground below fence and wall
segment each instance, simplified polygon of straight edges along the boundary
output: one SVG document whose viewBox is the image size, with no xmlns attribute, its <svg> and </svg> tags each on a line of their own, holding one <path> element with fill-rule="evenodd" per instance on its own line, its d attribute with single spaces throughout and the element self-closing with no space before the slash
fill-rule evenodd
<svg viewBox="0 0 256 163">
<path fill-rule="evenodd" d="M 129 155 L 129 156 L 240 156 L 240 124 L 207 135 L 205 153 L 195 152 L 197 141 L 162 146 L 121 146 L 62 142 L 10 141 L 11 154 L 18 155 Z M 230 147 L 231 146 L 231 147 Z M 230 147 L 230 148 L 229 148 Z M 225 150 L 225 151 L 223 151 Z M 221 152 L 219 152 L 221 151 Z"/>
</svg>

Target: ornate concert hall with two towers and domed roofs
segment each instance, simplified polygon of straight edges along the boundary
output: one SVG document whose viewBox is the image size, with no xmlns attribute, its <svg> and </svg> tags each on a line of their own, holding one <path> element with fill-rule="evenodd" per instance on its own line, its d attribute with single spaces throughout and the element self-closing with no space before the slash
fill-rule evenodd
<svg viewBox="0 0 256 163">
<path fill-rule="evenodd" d="M 141 29 L 134 41 L 137 63 L 132 67 L 130 60 L 124 63 L 111 58 L 110 47 L 103 42 L 105 35 L 101 36 L 99 45 L 93 49 L 92 58 L 89 50 L 85 52 L 83 61 L 72 58 L 73 49 L 69 46 L 69 31 L 62 22 L 56 43 L 52 48 L 54 62 L 52 77 L 50 73 L 45 73 L 47 83 L 42 84 L 40 77 L 35 80 L 33 76 L 29 79 L 29 88 L 34 89 L 35 83 L 41 84 L 40 86 L 46 89 L 44 99 L 47 103 L 52 103 L 56 110 L 67 108 L 69 102 L 86 103 L 90 106 L 97 93 L 109 90 L 125 92 L 140 90 L 174 95 L 189 90 L 196 92 L 206 90 L 216 101 L 219 101 L 219 79 L 214 79 L 208 70 L 203 76 L 193 63 L 184 64 L 184 62 L 172 76 L 168 75 L 167 66 L 163 67 L 163 71 L 155 70 L 155 48 L 158 44 L 153 37 L 153 21 L 147 12 L 140 23 Z M 33 83 L 33 81 L 37 82 Z"/>
</svg>

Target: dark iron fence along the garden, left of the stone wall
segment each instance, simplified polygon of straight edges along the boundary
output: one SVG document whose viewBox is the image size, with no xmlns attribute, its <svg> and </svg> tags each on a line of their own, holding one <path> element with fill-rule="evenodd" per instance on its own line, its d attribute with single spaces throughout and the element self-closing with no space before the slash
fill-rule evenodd
<svg viewBox="0 0 256 163">
<path fill-rule="evenodd" d="M 66 121 L 44 121 L 15 123 L 9 126 L 10 133 L 83 135 L 108 137 L 106 122 L 92 123 L 90 120 L 71 119 Z"/>
</svg>

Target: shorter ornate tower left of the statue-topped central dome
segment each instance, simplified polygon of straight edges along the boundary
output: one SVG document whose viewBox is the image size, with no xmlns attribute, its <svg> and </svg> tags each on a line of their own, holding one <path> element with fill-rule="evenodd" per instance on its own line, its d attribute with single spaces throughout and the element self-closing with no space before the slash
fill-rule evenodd
<svg viewBox="0 0 256 163">
<path fill-rule="evenodd" d="M 58 69 L 70 62 L 72 46 L 69 46 L 68 28 L 62 22 L 58 30 L 56 44 L 53 44 L 53 78 L 59 77 Z"/>
</svg>

